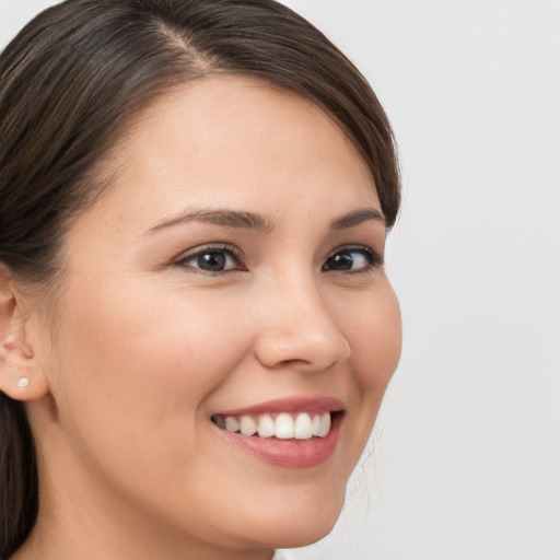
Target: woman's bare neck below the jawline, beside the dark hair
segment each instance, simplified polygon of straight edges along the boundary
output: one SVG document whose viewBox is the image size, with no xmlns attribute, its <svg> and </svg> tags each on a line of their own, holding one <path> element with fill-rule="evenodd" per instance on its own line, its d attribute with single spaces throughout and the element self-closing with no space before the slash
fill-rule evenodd
<svg viewBox="0 0 560 560">
<path fill-rule="evenodd" d="M 42 478 L 37 522 L 10 560 L 271 560 L 273 556 L 269 547 L 202 540 L 170 527 L 163 515 L 159 518 L 138 503 L 95 491 L 91 479 L 65 478 L 57 483 L 52 477 Z"/>
</svg>

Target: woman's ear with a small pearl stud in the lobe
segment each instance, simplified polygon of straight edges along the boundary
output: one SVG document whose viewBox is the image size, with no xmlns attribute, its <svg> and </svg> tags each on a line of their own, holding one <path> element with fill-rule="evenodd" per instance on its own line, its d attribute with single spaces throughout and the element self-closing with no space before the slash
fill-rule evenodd
<svg viewBox="0 0 560 560">
<path fill-rule="evenodd" d="M 23 296 L 0 264 L 0 390 L 15 400 L 48 394 L 48 381 L 26 337 Z"/>
</svg>

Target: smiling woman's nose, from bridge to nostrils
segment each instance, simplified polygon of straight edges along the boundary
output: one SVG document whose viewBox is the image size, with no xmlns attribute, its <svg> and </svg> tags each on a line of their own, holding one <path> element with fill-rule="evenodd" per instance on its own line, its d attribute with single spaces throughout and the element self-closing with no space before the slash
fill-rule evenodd
<svg viewBox="0 0 560 560">
<path fill-rule="evenodd" d="M 266 368 L 325 371 L 350 357 L 350 345 L 314 281 L 276 284 L 260 303 L 255 353 Z"/>
</svg>

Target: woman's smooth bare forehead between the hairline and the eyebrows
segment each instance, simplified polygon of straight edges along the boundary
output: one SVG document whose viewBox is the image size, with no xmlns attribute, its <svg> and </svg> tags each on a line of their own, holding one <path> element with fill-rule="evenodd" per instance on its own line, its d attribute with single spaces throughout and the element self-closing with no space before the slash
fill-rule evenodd
<svg viewBox="0 0 560 560">
<path fill-rule="evenodd" d="M 320 107 L 247 78 L 207 77 L 161 96 L 110 160 L 118 171 L 108 199 L 143 197 L 152 209 L 212 199 L 273 206 L 320 191 L 317 182 L 330 197 L 354 191 L 378 206 L 368 164 Z"/>
</svg>

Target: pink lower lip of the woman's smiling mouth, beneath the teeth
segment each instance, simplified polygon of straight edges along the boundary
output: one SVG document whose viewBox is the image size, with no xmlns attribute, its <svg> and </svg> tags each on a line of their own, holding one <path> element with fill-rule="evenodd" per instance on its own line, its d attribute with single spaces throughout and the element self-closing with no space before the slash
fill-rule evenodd
<svg viewBox="0 0 560 560">
<path fill-rule="evenodd" d="M 230 443 L 255 455 L 257 458 L 284 468 L 311 468 L 328 460 L 335 453 L 342 415 L 332 419 L 330 432 L 325 438 L 311 440 L 278 440 L 276 438 L 258 438 L 229 432 L 215 427 Z"/>
</svg>

